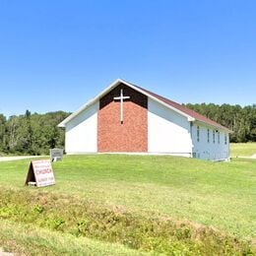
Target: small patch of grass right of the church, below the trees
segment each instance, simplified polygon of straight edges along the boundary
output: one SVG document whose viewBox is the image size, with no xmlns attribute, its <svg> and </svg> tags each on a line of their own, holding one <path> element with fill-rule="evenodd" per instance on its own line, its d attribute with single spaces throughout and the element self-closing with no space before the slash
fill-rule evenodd
<svg viewBox="0 0 256 256">
<path fill-rule="evenodd" d="M 256 143 L 230 143 L 230 156 L 251 157 L 256 154 Z"/>
</svg>

